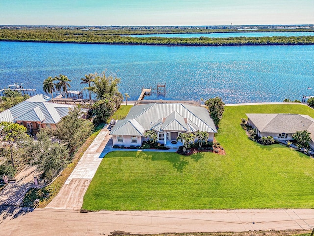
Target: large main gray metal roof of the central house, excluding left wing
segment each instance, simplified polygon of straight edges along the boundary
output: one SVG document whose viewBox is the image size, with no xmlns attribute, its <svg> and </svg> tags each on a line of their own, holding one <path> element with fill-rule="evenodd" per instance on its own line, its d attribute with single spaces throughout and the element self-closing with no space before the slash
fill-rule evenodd
<svg viewBox="0 0 314 236">
<path fill-rule="evenodd" d="M 217 132 L 206 108 L 181 103 L 150 103 L 134 106 L 125 119 L 136 120 L 145 130 L 151 128 L 157 131 L 163 128 L 176 130 L 175 128 L 178 128 L 178 131 L 184 129 L 192 131 L 197 127 L 200 131 Z M 166 125 L 168 128 L 165 127 Z"/>
</svg>

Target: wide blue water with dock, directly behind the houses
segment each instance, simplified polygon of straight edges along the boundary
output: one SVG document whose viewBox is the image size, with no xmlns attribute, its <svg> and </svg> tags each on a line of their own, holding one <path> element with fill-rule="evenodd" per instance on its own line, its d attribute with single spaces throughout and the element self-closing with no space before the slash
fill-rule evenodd
<svg viewBox="0 0 314 236">
<path fill-rule="evenodd" d="M 142 46 L 0 42 L 0 87 L 23 82 L 42 93 L 48 76 L 67 75 L 83 88 L 86 73 L 116 74 L 119 90 L 137 100 L 141 88 L 166 82 L 167 94 L 149 99 L 226 103 L 276 102 L 314 95 L 314 45 Z M 312 90 L 307 89 L 312 87 Z M 147 98 L 147 99 L 148 99 Z"/>
</svg>

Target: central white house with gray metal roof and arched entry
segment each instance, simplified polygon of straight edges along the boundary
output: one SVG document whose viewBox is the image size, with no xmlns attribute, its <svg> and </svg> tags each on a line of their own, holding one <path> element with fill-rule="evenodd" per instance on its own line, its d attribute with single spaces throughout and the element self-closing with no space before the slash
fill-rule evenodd
<svg viewBox="0 0 314 236">
<path fill-rule="evenodd" d="M 207 131 L 209 141 L 217 133 L 216 126 L 204 107 L 183 103 L 150 103 L 130 109 L 124 120 L 118 120 L 112 128 L 113 145 L 141 146 L 148 130 L 157 132 L 158 142 L 174 145 L 179 133 Z"/>
</svg>

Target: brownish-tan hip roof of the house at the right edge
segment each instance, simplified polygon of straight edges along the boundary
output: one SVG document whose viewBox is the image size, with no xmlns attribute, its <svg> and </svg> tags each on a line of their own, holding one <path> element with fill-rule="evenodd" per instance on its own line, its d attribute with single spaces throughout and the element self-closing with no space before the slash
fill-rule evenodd
<svg viewBox="0 0 314 236">
<path fill-rule="evenodd" d="M 290 133 L 308 130 L 314 123 L 314 119 L 308 115 L 286 113 L 249 113 L 246 114 L 252 123 L 265 133 Z"/>
</svg>

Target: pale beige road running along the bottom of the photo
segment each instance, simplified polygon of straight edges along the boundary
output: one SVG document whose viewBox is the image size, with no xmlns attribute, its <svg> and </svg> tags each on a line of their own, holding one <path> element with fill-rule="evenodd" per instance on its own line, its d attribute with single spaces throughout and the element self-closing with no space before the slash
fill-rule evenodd
<svg viewBox="0 0 314 236">
<path fill-rule="evenodd" d="M 254 222 L 254 224 L 253 224 Z M 35 209 L 1 224 L 1 236 L 95 236 L 132 234 L 311 229 L 314 209 L 99 211 Z"/>
</svg>

